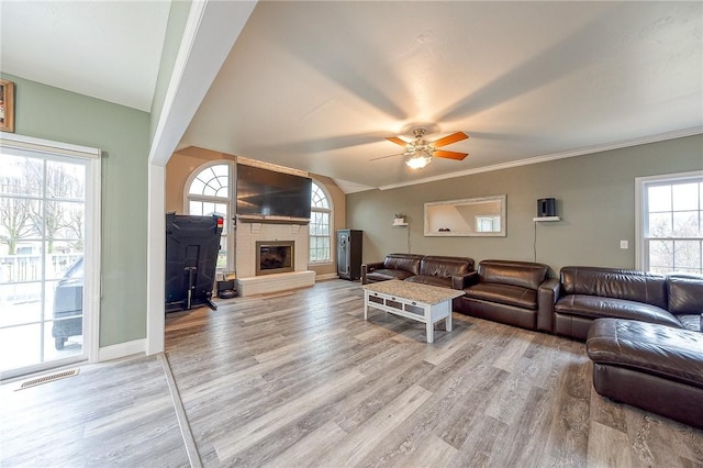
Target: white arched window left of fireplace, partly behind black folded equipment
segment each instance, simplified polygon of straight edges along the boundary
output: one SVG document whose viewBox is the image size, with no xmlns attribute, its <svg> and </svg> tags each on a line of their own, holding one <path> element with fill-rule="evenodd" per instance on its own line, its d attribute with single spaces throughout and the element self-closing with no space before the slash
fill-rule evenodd
<svg viewBox="0 0 703 468">
<path fill-rule="evenodd" d="M 187 187 L 187 214 L 209 215 L 219 214 L 224 218 L 224 229 L 220 239 L 217 255 L 217 271 L 232 270 L 230 252 L 230 221 L 232 219 L 232 202 L 230 181 L 232 165 L 227 161 L 213 161 L 196 170 Z"/>
</svg>

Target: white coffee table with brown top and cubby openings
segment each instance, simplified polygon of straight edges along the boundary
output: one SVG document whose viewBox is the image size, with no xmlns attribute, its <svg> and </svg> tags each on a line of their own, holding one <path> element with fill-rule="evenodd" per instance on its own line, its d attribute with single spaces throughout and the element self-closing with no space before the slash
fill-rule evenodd
<svg viewBox="0 0 703 468">
<path fill-rule="evenodd" d="M 361 288 L 364 320 L 368 320 L 371 307 L 422 322 L 427 328 L 427 343 L 434 342 L 434 327 L 437 322 L 444 320 L 447 332 L 451 332 L 451 300 L 464 296 L 464 291 L 457 289 L 397 279 L 364 285 Z"/>
</svg>

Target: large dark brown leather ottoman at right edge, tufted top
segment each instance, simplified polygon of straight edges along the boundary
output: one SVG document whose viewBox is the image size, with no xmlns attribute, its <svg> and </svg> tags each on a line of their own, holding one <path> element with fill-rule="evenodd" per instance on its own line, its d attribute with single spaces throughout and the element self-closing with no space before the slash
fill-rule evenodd
<svg viewBox="0 0 703 468">
<path fill-rule="evenodd" d="M 600 394 L 703 428 L 703 333 L 599 319 L 585 349 Z"/>
</svg>

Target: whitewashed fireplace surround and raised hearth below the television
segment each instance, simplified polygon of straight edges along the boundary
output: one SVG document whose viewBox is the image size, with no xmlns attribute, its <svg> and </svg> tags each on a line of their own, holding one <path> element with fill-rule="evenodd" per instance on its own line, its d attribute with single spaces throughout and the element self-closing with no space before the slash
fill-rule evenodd
<svg viewBox="0 0 703 468">
<path fill-rule="evenodd" d="M 235 264 L 239 296 L 255 296 L 314 286 L 315 272 L 308 269 L 309 227 L 237 220 Z M 256 276 L 256 243 L 293 241 L 294 271 Z"/>
</svg>

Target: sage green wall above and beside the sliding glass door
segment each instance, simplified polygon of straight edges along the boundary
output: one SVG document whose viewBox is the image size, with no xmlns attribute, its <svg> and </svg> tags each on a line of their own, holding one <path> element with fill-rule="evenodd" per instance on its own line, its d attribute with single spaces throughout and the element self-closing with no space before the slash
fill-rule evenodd
<svg viewBox="0 0 703 468">
<path fill-rule="evenodd" d="M 103 149 L 100 346 L 146 337 L 149 114 L 29 81 L 15 82 L 14 132 Z"/>
</svg>

